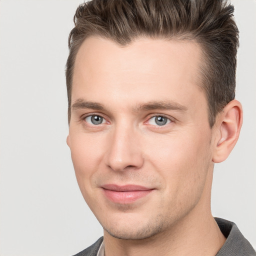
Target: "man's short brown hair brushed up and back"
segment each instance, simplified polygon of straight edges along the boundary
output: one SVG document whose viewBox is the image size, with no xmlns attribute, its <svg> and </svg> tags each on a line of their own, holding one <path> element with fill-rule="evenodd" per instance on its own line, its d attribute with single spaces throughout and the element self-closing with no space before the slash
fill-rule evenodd
<svg viewBox="0 0 256 256">
<path fill-rule="evenodd" d="M 235 96 L 238 29 L 226 0 L 91 0 L 80 4 L 68 38 L 66 62 L 68 122 L 76 53 L 88 36 L 120 46 L 136 38 L 193 40 L 201 47 L 200 85 L 208 101 L 210 127 Z"/>
</svg>

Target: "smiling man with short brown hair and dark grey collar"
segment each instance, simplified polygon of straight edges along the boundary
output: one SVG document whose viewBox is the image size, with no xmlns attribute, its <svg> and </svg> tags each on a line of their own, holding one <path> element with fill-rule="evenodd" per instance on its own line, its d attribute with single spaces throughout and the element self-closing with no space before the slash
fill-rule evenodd
<svg viewBox="0 0 256 256">
<path fill-rule="evenodd" d="M 66 64 L 67 144 L 104 235 L 76 255 L 255 255 L 213 218 L 213 165 L 242 124 L 238 29 L 221 0 L 92 0 Z"/>
</svg>

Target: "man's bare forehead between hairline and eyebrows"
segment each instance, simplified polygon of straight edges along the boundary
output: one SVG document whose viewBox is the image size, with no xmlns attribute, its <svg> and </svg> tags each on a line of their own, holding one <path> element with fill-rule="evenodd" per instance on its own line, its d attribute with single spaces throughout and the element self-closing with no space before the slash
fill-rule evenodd
<svg viewBox="0 0 256 256">
<path fill-rule="evenodd" d="M 72 102 L 182 101 L 185 94 L 201 93 L 200 53 L 199 45 L 188 40 L 139 38 L 120 46 L 88 37 L 75 59 Z"/>
</svg>

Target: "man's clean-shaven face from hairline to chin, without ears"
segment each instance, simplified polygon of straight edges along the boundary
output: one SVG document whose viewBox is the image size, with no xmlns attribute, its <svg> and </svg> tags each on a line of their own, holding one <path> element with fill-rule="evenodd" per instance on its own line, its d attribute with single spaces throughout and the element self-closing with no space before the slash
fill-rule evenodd
<svg viewBox="0 0 256 256">
<path fill-rule="evenodd" d="M 67 143 L 103 228 L 124 239 L 208 210 L 213 130 L 192 41 L 87 38 L 75 60 Z"/>
</svg>

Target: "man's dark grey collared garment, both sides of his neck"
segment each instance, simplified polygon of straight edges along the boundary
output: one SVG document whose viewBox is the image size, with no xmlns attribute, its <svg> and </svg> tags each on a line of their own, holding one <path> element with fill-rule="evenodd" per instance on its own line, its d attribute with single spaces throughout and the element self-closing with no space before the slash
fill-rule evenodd
<svg viewBox="0 0 256 256">
<path fill-rule="evenodd" d="M 235 223 L 222 218 L 215 218 L 215 221 L 223 235 L 226 237 L 225 243 L 217 252 L 216 256 L 256 256 L 254 249 L 248 240 L 244 238 Z M 97 252 L 102 242 L 103 236 L 88 248 L 73 256 L 97 256 Z"/>
</svg>

